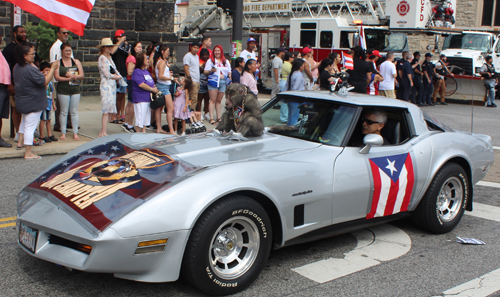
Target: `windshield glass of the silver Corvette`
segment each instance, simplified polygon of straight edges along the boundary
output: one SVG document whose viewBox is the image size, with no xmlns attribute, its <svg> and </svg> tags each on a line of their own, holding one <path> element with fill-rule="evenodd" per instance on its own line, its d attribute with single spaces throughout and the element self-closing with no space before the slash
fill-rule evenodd
<svg viewBox="0 0 500 297">
<path fill-rule="evenodd" d="M 280 103 L 280 101 L 283 102 Z M 289 112 L 289 123 L 280 119 L 280 108 Z M 264 126 L 269 132 L 326 145 L 342 145 L 356 114 L 356 107 L 329 100 L 318 100 L 280 94 L 263 107 Z"/>
</svg>

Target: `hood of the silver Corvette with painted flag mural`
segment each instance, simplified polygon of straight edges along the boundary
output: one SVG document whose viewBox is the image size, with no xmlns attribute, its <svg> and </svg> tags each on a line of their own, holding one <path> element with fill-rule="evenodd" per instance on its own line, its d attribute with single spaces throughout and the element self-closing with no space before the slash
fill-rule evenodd
<svg viewBox="0 0 500 297">
<path fill-rule="evenodd" d="M 235 142 L 203 134 L 190 139 L 173 137 L 143 143 L 124 136 L 68 157 L 27 188 L 36 189 L 31 195 L 37 200 L 46 197 L 58 206 L 62 202 L 69 215 L 102 232 L 145 203 L 161 187 L 168 187 L 197 170 L 283 154 L 283 148 L 296 151 L 316 146 L 278 136 Z"/>
</svg>

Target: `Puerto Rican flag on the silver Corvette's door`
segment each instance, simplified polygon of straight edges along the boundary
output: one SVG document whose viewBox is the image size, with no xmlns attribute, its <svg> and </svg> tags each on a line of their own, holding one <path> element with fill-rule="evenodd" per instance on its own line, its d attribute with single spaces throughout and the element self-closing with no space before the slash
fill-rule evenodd
<svg viewBox="0 0 500 297">
<path fill-rule="evenodd" d="M 409 153 L 370 159 L 373 197 L 367 219 L 408 210 L 415 176 Z"/>
</svg>

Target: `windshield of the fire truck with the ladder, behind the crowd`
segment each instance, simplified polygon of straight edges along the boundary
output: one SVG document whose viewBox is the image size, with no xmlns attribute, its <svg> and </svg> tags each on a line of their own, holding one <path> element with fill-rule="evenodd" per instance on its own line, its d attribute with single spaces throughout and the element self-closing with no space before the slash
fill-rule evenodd
<svg viewBox="0 0 500 297">
<path fill-rule="evenodd" d="M 401 52 L 406 46 L 405 33 L 390 33 L 387 30 L 365 29 L 366 48 L 380 52 Z"/>
</svg>

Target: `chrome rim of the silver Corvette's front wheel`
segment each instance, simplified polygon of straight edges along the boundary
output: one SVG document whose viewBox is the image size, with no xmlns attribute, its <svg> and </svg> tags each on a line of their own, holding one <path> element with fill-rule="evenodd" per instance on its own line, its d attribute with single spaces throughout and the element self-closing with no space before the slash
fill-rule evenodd
<svg viewBox="0 0 500 297">
<path fill-rule="evenodd" d="M 221 278 L 238 278 L 252 267 L 259 248 L 257 225 L 246 217 L 233 217 L 222 223 L 212 237 L 210 268 Z"/>
</svg>

